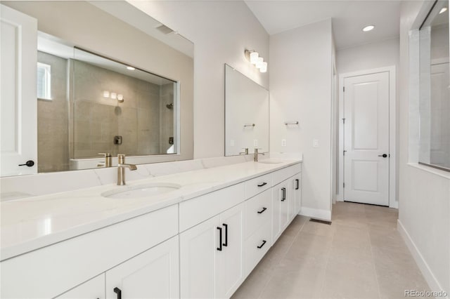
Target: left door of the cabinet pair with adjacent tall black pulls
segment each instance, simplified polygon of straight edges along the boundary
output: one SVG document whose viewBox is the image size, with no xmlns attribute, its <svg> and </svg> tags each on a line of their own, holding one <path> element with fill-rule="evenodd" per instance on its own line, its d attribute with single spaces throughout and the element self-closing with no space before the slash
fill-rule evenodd
<svg viewBox="0 0 450 299">
<path fill-rule="evenodd" d="M 214 298 L 222 229 L 217 215 L 180 234 L 181 298 Z"/>
</svg>

